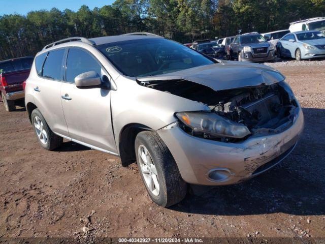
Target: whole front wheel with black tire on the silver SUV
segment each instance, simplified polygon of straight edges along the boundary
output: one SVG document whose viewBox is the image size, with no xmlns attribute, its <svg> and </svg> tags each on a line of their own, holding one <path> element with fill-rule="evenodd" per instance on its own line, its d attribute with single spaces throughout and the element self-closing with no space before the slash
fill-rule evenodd
<svg viewBox="0 0 325 244">
<path fill-rule="evenodd" d="M 163 207 L 182 201 L 187 184 L 164 141 L 155 132 L 143 131 L 136 137 L 135 150 L 139 172 L 152 201 Z"/>
</svg>

